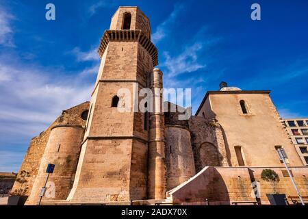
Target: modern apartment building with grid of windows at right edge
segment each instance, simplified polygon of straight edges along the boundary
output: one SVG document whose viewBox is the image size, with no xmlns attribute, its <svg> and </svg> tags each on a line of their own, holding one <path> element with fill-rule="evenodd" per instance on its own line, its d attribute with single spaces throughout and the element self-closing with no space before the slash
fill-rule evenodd
<svg viewBox="0 0 308 219">
<path fill-rule="evenodd" d="M 284 122 L 296 151 L 308 166 L 308 118 L 287 118 Z"/>
</svg>

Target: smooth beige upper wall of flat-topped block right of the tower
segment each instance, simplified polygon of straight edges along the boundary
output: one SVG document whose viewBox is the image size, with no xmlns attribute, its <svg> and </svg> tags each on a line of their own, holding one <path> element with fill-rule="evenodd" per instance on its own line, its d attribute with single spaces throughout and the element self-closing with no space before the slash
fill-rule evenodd
<svg viewBox="0 0 308 219">
<path fill-rule="evenodd" d="M 243 166 L 237 156 L 240 149 L 244 166 L 283 166 L 275 146 L 282 146 L 291 166 L 302 166 L 294 145 L 269 91 L 220 91 L 208 92 L 207 101 L 198 117 L 215 118 L 220 124 L 227 149 L 229 166 Z M 240 101 L 245 101 L 244 114 Z"/>
</svg>

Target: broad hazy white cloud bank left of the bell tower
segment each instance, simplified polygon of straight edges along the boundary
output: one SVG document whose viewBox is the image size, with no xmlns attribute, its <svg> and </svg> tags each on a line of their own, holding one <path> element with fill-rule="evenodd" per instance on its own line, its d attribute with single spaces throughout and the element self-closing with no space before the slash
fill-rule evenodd
<svg viewBox="0 0 308 219">
<path fill-rule="evenodd" d="M 81 75 L 69 77 L 41 66 L 8 63 L 0 59 L 0 75 L 10 75 L 0 81 L 0 123 L 11 129 L 0 129 L 1 136 L 37 135 L 61 110 L 90 99 L 93 85 Z"/>
</svg>

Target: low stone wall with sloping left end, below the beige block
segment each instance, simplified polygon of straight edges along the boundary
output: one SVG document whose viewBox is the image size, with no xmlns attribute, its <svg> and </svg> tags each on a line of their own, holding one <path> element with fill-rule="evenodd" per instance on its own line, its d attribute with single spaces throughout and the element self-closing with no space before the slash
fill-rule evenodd
<svg viewBox="0 0 308 219">
<path fill-rule="evenodd" d="M 285 194 L 287 197 L 297 196 L 285 168 L 268 168 L 279 175 L 280 181 L 276 186 L 279 194 Z M 307 196 L 308 168 L 303 166 L 290 169 L 301 195 Z M 262 170 L 264 167 L 205 167 L 192 179 L 168 192 L 167 196 L 174 203 L 205 203 L 207 199 L 209 205 L 231 205 L 234 202 L 242 201 L 254 201 L 261 205 L 268 205 L 266 194 L 272 194 L 273 187 L 270 182 L 261 179 Z M 257 182 L 257 188 L 252 184 L 253 182 Z M 256 193 L 259 193 L 260 196 L 255 196 Z M 290 198 L 287 199 L 290 204 L 293 204 Z"/>
</svg>

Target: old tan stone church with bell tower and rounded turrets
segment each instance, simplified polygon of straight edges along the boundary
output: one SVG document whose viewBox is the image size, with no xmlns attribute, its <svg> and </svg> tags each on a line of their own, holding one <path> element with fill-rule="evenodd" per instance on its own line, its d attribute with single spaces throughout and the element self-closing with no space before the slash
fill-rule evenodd
<svg viewBox="0 0 308 219">
<path fill-rule="evenodd" d="M 26 205 L 38 205 L 48 164 L 55 169 L 42 205 L 266 205 L 272 187 L 261 179 L 264 169 L 277 172 L 277 192 L 297 195 L 278 148 L 287 154 L 300 194 L 308 195 L 308 168 L 269 90 L 222 82 L 200 100 L 194 116 L 179 119 L 189 109 L 162 104 L 158 52 L 149 18 L 137 7 L 118 8 L 98 52 L 90 101 L 64 110 L 29 144 L 18 172 L 29 172 L 27 181 L 12 189 L 27 196 Z M 118 94 L 122 88 L 131 94 L 150 89 L 155 110 L 120 112 L 120 105 L 133 107 Z"/>
</svg>

